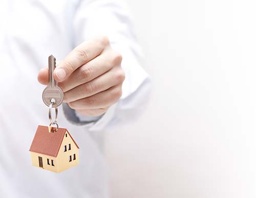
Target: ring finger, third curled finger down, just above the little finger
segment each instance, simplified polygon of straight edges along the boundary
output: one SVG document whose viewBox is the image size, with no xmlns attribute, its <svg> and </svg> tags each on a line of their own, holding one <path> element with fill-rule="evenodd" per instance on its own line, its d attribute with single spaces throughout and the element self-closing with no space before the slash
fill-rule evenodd
<svg viewBox="0 0 256 198">
<path fill-rule="evenodd" d="M 77 101 L 81 98 L 109 89 L 115 85 L 122 84 L 124 78 L 124 72 L 120 66 L 114 67 L 100 77 L 65 92 L 63 102 L 70 103 L 72 101 Z"/>
</svg>

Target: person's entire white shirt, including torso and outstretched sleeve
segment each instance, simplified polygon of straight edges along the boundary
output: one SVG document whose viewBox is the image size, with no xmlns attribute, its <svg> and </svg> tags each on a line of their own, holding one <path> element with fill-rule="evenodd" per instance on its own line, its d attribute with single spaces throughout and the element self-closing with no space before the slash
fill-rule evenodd
<svg viewBox="0 0 256 198">
<path fill-rule="evenodd" d="M 49 125 L 42 102 L 40 68 L 53 54 L 61 60 L 78 44 L 106 35 L 122 54 L 126 79 L 119 102 L 102 116 L 84 117 L 67 104 L 59 107 L 58 125 L 79 145 L 79 165 L 59 174 L 33 167 L 29 147 L 38 125 Z M 150 80 L 129 11 L 122 1 L 0 2 L 0 197 L 109 197 L 108 174 L 95 138 L 143 110 Z"/>
</svg>

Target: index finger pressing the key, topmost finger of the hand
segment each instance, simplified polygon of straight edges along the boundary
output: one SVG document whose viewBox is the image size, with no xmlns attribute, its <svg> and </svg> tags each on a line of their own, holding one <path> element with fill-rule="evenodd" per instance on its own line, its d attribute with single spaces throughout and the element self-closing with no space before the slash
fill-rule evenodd
<svg viewBox="0 0 256 198">
<path fill-rule="evenodd" d="M 57 82 L 62 82 L 67 79 L 73 71 L 83 64 L 97 57 L 104 50 L 105 46 L 109 45 L 107 37 L 98 37 L 74 48 L 69 55 L 59 63 L 54 70 L 53 76 Z"/>
</svg>

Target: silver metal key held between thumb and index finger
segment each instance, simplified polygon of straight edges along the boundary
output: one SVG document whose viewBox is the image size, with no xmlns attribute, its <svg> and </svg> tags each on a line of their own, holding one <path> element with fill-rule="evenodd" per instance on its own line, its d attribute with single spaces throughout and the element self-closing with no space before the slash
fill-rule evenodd
<svg viewBox="0 0 256 198">
<path fill-rule="evenodd" d="M 63 91 L 58 87 L 57 82 L 53 78 L 53 71 L 56 67 L 56 59 L 54 56 L 49 56 L 48 58 L 48 66 L 49 66 L 49 84 L 42 92 L 42 101 L 49 107 L 52 102 L 53 108 L 58 107 L 64 98 Z"/>
</svg>

